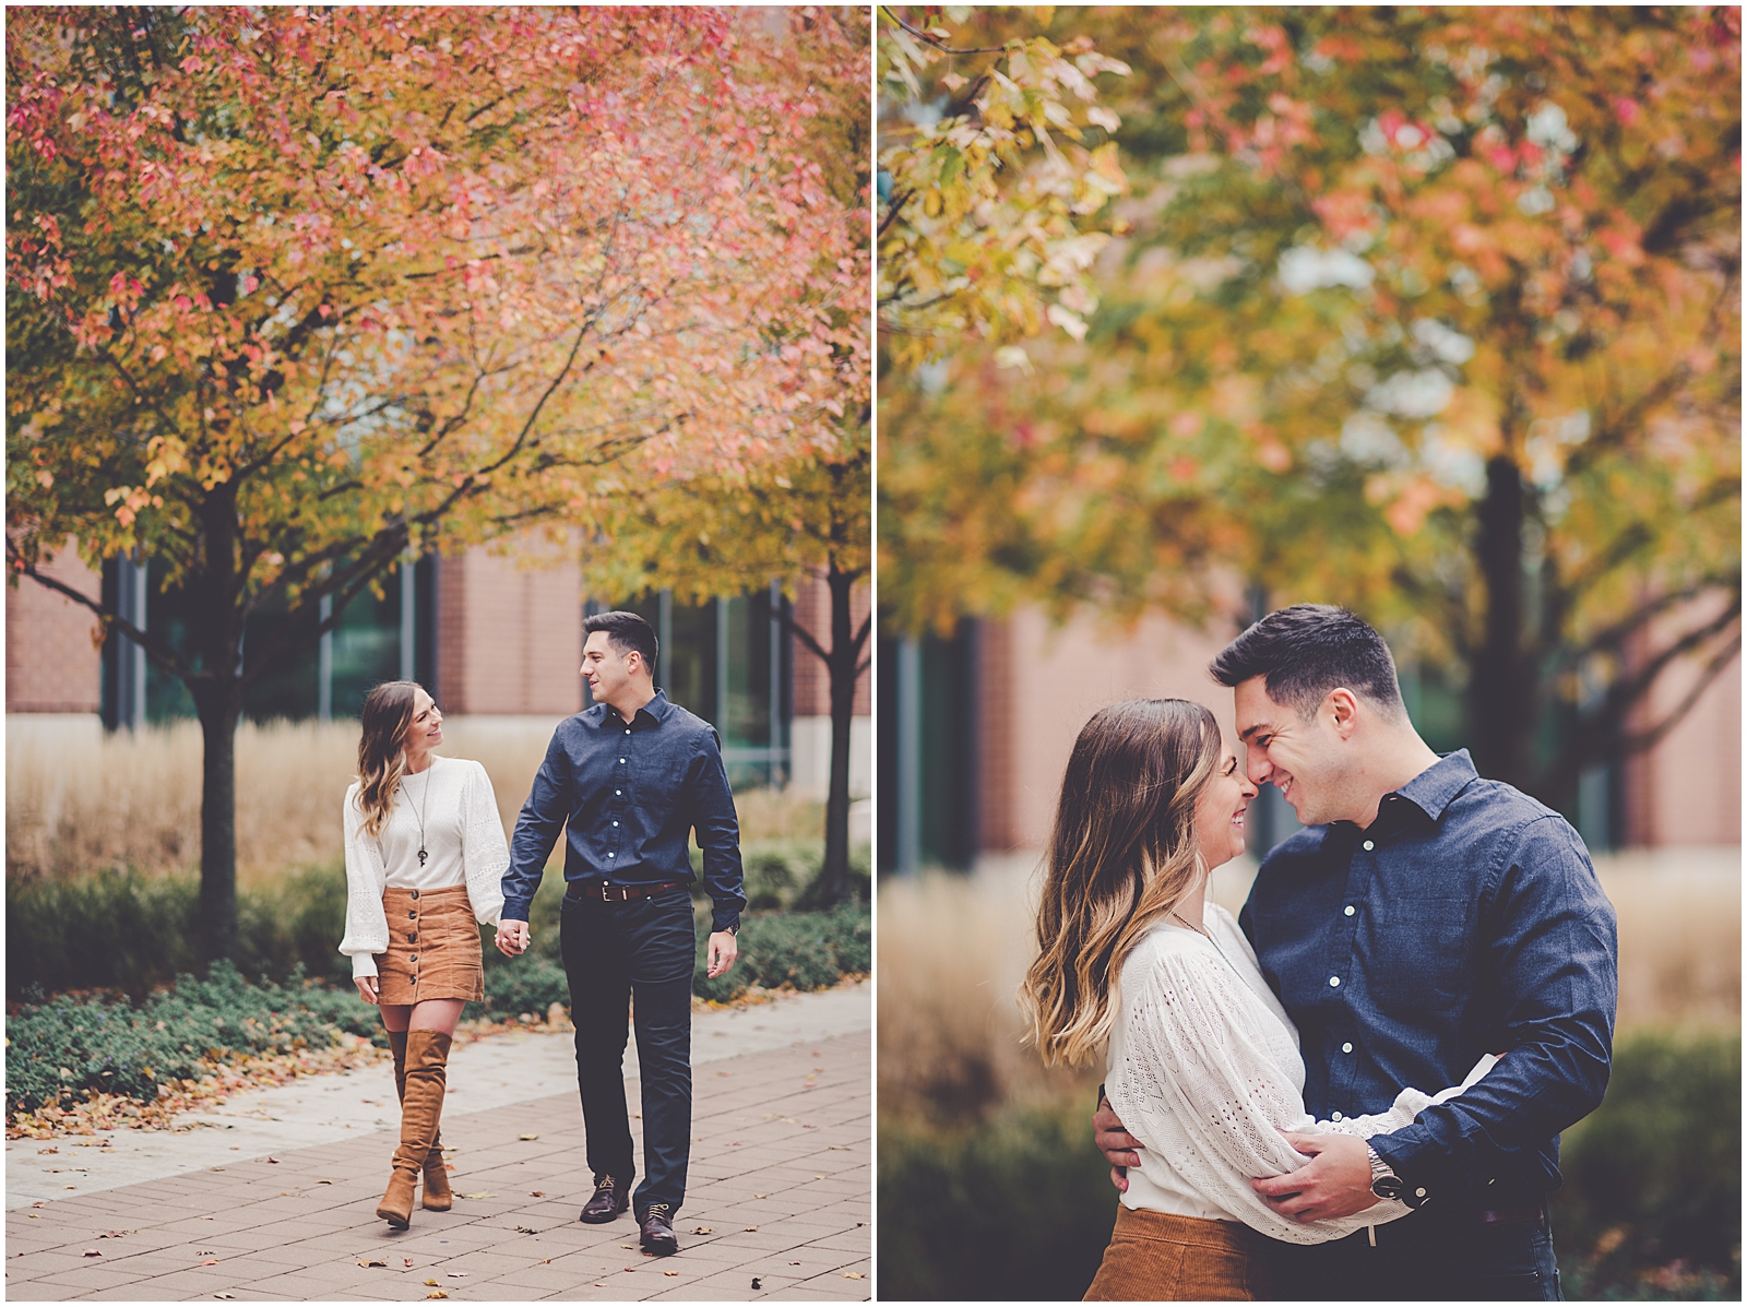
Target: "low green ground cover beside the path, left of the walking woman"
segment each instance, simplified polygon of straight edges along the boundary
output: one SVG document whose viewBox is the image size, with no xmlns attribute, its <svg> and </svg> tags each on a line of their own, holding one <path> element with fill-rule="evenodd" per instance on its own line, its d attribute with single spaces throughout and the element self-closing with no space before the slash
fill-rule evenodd
<svg viewBox="0 0 1747 1307">
<path fill-rule="evenodd" d="M 110 1092 L 150 1101 L 169 1080 L 197 1078 L 224 1057 L 330 1047 L 342 1033 L 386 1045 L 356 992 L 306 982 L 252 985 L 229 963 L 206 980 L 178 977 L 140 1006 L 61 996 L 7 1019 L 7 1113 Z"/>
</svg>

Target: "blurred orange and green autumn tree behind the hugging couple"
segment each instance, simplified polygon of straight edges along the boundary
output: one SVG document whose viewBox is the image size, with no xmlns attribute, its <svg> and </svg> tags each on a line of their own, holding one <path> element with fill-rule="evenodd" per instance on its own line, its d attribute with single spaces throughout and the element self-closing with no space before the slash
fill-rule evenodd
<svg viewBox="0 0 1747 1307">
<path fill-rule="evenodd" d="M 1032 379 L 964 351 L 882 397 L 882 587 L 914 622 L 1195 612 L 1221 571 L 1343 601 L 1551 802 L 1665 736 L 1696 692 L 1646 720 L 1656 678 L 1740 648 L 1738 10 L 1073 26 L 1132 63 L 1134 231 Z M 931 477 L 949 433 L 987 500 Z"/>
</svg>

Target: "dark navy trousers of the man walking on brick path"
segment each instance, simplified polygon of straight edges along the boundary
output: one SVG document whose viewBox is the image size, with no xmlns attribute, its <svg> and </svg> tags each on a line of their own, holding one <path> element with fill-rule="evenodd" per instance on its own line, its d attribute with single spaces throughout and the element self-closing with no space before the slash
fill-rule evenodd
<svg viewBox="0 0 1747 1307">
<path fill-rule="evenodd" d="M 634 1020 L 643 1183 L 631 1206 L 639 1220 L 655 1202 L 678 1211 L 692 1157 L 692 895 L 676 886 L 629 903 L 566 896 L 559 945 L 577 1026 L 589 1169 L 617 1179 L 636 1176 L 625 1113 L 625 1036 Z"/>
</svg>

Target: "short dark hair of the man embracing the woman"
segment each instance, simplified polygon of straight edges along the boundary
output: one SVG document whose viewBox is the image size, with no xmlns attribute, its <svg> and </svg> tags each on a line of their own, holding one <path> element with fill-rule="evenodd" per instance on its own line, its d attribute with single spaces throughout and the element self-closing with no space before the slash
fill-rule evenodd
<svg viewBox="0 0 1747 1307">
<path fill-rule="evenodd" d="M 1261 676 L 1268 697 L 1300 716 L 1315 713 L 1345 685 L 1392 720 L 1406 718 L 1396 660 L 1363 619 L 1326 603 L 1295 603 L 1268 613 L 1207 664 L 1219 685 Z"/>
</svg>

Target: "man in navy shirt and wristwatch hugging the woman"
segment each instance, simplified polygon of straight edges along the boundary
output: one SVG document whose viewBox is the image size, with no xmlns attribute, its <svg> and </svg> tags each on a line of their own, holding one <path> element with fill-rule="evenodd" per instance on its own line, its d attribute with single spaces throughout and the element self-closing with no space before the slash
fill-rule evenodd
<svg viewBox="0 0 1747 1307">
<path fill-rule="evenodd" d="M 1612 905 L 1578 832 L 1466 751 L 1413 730 L 1384 640 L 1352 613 L 1296 605 L 1211 667 L 1233 688 L 1249 778 L 1298 832 L 1263 860 L 1240 924 L 1302 1038 L 1305 1110 L 1384 1111 L 1405 1085 L 1474 1087 L 1370 1141 L 1288 1136 L 1310 1160 L 1253 1181 L 1303 1221 L 1378 1202 L 1413 1211 L 1347 1239 L 1274 1242 L 1284 1298 L 1558 1300 L 1546 1193 L 1558 1132 L 1600 1104 L 1612 1054 Z M 1109 1106 L 1099 1148 L 1137 1143 Z"/>
</svg>

